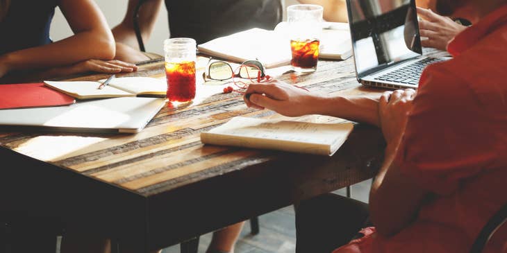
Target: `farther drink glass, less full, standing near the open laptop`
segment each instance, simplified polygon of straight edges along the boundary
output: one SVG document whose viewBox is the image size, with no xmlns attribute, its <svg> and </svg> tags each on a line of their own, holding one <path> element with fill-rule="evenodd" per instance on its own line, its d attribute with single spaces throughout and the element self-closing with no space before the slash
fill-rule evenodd
<svg viewBox="0 0 507 253">
<path fill-rule="evenodd" d="M 296 4 L 287 8 L 290 30 L 292 69 L 313 72 L 319 60 L 319 33 L 322 30 L 324 8 L 313 4 Z"/>
</svg>

